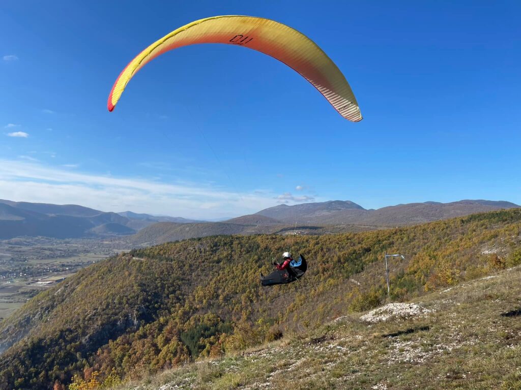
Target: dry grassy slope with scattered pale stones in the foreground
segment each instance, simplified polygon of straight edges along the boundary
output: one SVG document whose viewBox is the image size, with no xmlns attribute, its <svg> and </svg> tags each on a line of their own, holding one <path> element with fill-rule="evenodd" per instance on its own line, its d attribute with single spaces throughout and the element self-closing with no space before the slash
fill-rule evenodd
<svg viewBox="0 0 521 390">
<path fill-rule="evenodd" d="M 348 315 L 114 390 L 520 389 L 520 295 L 517 267 L 422 297 L 432 313 L 418 318 L 367 324 Z"/>
</svg>

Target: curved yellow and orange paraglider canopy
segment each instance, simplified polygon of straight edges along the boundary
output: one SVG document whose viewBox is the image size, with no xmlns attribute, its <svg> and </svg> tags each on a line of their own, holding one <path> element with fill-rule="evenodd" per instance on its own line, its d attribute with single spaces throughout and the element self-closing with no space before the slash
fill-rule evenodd
<svg viewBox="0 0 521 390">
<path fill-rule="evenodd" d="M 127 83 L 147 62 L 168 50 L 198 43 L 243 46 L 274 57 L 313 84 L 345 119 L 362 120 L 349 83 L 317 44 L 274 20 L 234 15 L 196 20 L 144 49 L 130 61 L 114 83 L 108 96 L 108 110 L 114 110 Z"/>
</svg>

